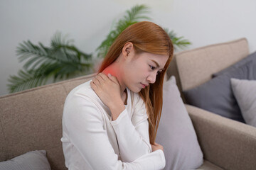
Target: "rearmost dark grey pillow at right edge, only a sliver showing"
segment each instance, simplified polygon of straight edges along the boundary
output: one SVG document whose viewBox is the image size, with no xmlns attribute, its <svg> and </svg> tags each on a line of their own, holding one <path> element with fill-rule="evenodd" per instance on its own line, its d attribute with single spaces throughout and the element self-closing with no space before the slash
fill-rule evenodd
<svg viewBox="0 0 256 170">
<path fill-rule="evenodd" d="M 252 54 L 248 55 L 244 59 L 240 60 L 239 62 L 236 62 L 232 66 L 221 70 L 218 73 L 213 74 L 213 77 L 217 77 L 225 72 L 232 72 L 234 69 L 238 69 L 242 65 L 244 65 L 247 62 L 252 62 L 253 72 L 254 72 L 254 79 L 256 79 L 256 52 L 253 52 Z"/>
</svg>

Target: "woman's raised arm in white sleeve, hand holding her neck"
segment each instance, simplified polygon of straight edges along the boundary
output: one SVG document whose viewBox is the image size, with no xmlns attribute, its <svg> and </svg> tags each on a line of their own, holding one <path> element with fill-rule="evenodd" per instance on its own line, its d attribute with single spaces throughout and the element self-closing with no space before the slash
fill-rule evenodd
<svg viewBox="0 0 256 170">
<path fill-rule="evenodd" d="M 144 101 L 135 95 L 134 114 L 131 121 L 121 99 L 119 82 L 114 76 L 98 74 L 90 86 L 112 114 L 112 127 L 117 135 L 119 152 L 124 162 L 132 162 L 151 152 L 149 123 Z M 132 113 L 130 113 L 132 114 Z"/>
</svg>

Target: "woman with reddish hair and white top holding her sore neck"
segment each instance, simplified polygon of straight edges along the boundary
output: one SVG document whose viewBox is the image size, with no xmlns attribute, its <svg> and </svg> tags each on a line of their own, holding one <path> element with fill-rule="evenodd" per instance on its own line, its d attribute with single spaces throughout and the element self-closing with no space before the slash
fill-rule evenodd
<svg viewBox="0 0 256 170">
<path fill-rule="evenodd" d="M 135 23 L 114 41 L 99 74 L 77 86 L 63 111 L 68 169 L 163 169 L 156 144 L 164 74 L 174 48 L 151 22 Z"/>
</svg>

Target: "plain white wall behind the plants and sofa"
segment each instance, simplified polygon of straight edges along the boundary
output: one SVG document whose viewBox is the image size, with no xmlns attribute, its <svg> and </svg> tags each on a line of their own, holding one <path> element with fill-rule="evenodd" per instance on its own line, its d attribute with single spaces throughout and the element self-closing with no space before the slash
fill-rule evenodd
<svg viewBox="0 0 256 170">
<path fill-rule="evenodd" d="M 114 20 L 134 4 L 151 6 L 151 18 L 193 42 L 188 49 L 247 38 L 256 50 L 254 0 L 12 0 L 0 1 L 0 96 L 9 75 L 17 74 L 16 47 L 23 40 L 49 45 L 56 30 L 84 52 L 95 52 Z"/>
</svg>

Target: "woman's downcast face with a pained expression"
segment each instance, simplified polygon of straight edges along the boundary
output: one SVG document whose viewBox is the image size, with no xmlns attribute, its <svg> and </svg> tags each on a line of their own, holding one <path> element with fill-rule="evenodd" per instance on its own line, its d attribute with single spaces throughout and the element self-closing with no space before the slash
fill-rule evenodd
<svg viewBox="0 0 256 170">
<path fill-rule="evenodd" d="M 154 84 L 157 74 L 164 69 L 168 58 L 168 55 L 154 55 L 148 52 L 134 54 L 124 64 L 124 84 L 134 93 L 139 93 L 149 84 Z"/>
</svg>

